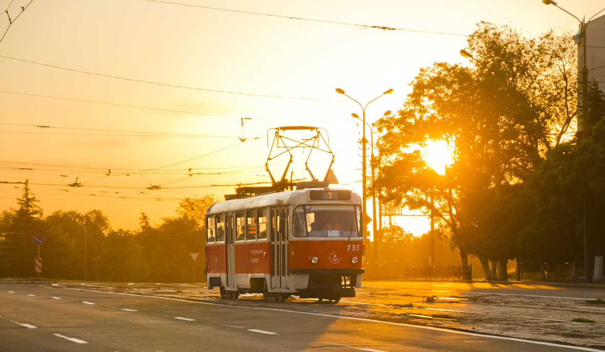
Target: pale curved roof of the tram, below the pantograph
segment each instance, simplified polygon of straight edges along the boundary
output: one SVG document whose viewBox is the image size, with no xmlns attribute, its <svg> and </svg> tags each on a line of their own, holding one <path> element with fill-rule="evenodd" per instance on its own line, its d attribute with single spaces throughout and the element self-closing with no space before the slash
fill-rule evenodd
<svg viewBox="0 0 605 352">
<path fill-rule="evenodd" d="M 224 212 L 234 212 L 236 210 L 242 209 L 257 209 L 260 207 L 267 206 L 287 206 L 289 204 L 304 204 L 309 203 L 309 198 L 307 194 L 309 191 L 313 189 L 325 190 L 325 188 L 306 188 L 306 189 L 297 189 L 296 191 L 284 191 L 284 192 L 276 192 L 269 194 L 260 194 L 253 195 L 251 197 L 246 198 L 238 198 L 233 200 L 224 200 L 218 203 L 214 203 L 206 209 L 206 214 L 214 214 L 214 213 L 224 213 Z M 332 191 L 341 190 L 341 191 L 350 191 L 351 192 L 351 200 L 350 201 L 330 201 L 330 203 L 352 203 L 352 204 L 361 204 L 361 197 L 354 191 L 350 189 L 342 189 L 342 188 L 330 188 Z"/>
</svg>

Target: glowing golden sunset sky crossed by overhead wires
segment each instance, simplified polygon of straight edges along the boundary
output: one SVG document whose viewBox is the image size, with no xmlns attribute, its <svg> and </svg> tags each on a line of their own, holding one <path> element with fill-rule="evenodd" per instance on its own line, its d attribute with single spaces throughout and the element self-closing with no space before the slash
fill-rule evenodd
<svg viewBox="0 0 605 352">
<path fill-rule="evenodd" d="M 28 178 L 47 214 L 100 209 L 114 228 L 136 229 L 140 212 L 160 223 L 179 198 L 232 193 L 213 184 L 269 180 L 267 129 L 313 125 L 329 132 L 340 186 L 361 194 L 361 123 L 350 115 L 361 109 L 335 88 L 364 105 L 393 88 L 368 105 L 371 123 L 401 108 L 420 67 L 467 64 L 458 51 L 479 21 L 530 36 L 577 31 L 574 18 L 540 0 L 172 2 L 181 5 L 28 5 L 0 42 L 0 181 Z M 15 19 L 28 3 L 0 0 L 0 10 L 8 7 Z M 603 7 L 558 4 L 580 18 Z M 8 27 L 2 15 L 0 33 Z M 372 25 L 399 29 L 364 27 Z M 241 118 L 250 118 L 243 131 Z M 308 151 L 297 152 L 294 177 L 307 177 L 301 160 Z M 314 155 L 314 173 L 323 174 L 329 157 Z M 83 187 L 68 187 L 76 178 Z M 21 187 L 0 184 L 0 210 L 16 206 Z M 398 224 L 414 235 L 428 228 L 424 218 Z"/>
</svg>

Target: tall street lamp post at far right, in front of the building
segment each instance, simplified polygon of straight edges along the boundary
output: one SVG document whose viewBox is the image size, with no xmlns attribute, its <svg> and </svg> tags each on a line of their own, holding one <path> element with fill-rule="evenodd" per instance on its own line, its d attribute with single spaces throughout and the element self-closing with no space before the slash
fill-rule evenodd
<svg viewBox="0 0 605 352">
<path fill-rule="evenodd" d="M 605 11 L 605 8 L 603 8 L 603 10 L 598 11 L 597 13 L 595 13 L 591 18 L 588 19 L 588 21 L 584 22 L 584 19 L 586 19 L 586 16 L 584 16 L 584 18 L 582 18 L 582 21 L 580 21 L 579 18 L 577 18 L 573 13 L 565 10 L 564 8 L 560 7 L 559 5 L 557 5 L 557 2 L 553 1 L 553 0 L 542 0 L 542 2 L 546 5 L 555 5 L 556 7 L 558 7 L 560 10 L 564 11 L 565 13 L 567 13 L 568 15 L 571 15 L 573 18 L 577 19 L 578 22 L 580 22 L 580 33 L 578 33 L 577 37 L 575 37 L 575 42 L 576 44 L 580 44 L 580 41 L 582 42 L 582 105 L 581 105 L 581 123 L 580 123 L 580 105 L 578 104 L 578 131 L 580 130 L 580 126 L 582 128 L 582 139 L 587 139 L 588 138 L 588 123 L 587 123 L 587 119 L 588 119 L 588 68 L 586 66 L 586 26 L 590 23 L 590 21 L 592 21 L 593 18 L 595 18 L 595 16 L 597 16 L 598 14 L 600 14 L 601 12 Z M 580 94 L 578 92 L 578 102 L 580 101 Z M 592 248 L 591 248 L 591 238 L 590 238 L 590 230 L 589 230 L 589 224 L 588 224 L 588 218 L 589 218 L 589 212 L 587 211 L 587 207 L 589 207 L 588 204 L 586 204 L 586 200 L 584 200 L 584 280 L 586 282 L 590 282 L 592 281 L 592 267 L 594 266 L 594 262 L 592 261 Z"/>
</svg>

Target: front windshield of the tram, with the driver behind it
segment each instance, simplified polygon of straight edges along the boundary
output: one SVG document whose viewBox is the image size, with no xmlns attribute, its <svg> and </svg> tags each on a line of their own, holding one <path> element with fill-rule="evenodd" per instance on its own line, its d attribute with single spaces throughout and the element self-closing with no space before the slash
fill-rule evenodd
<svg viewBox="0 0 605 352">
<path fill-rule="evenodd" d="M 295 237 L 358 237 L 359 207 L 307 205 L 294 210 Z"/>
</svg>

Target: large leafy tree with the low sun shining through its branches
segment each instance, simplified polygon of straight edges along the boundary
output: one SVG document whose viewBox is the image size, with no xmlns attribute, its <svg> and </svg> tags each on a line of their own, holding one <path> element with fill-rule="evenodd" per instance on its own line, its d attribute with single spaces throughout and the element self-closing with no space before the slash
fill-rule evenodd
<svg viewBox="0 0 605 352">
<path fill-rule="evenodd" d="M 374 187 L 386 201 L 433 212 L 462 263 L 469 253 L 489 268 L 488 259 L 508 255 L 484 246 L 479 213 L 495 194 L 528 180 L 569 128 L 575 51 L 568 37 L 552 31 L 528 39 L 486 22 L 469 36 L 468 48 L 477 58 L 473 68 L 422 68 L 397 116 L 379 120 L 383 162 Z M 453 152 L 443 174 L 420 152 L 438 140 Z"/>
</svg>

